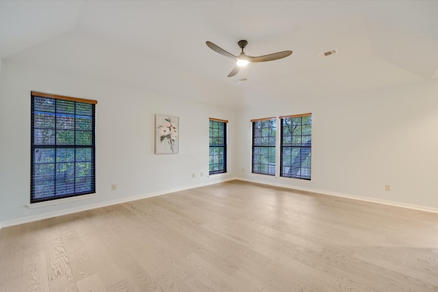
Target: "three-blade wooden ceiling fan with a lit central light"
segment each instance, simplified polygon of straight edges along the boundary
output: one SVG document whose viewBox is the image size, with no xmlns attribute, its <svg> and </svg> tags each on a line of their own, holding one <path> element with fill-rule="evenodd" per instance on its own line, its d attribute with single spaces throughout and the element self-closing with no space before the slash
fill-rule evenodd
<svg viewBox="0 0 438 292">
<path fill-rule="evenodd" d="M 240 49 L 242 49 L 242 52 L 238 56 L 235 56 L 231 53 L 228 53 L 224 49 L 216 46 L 216 44 L 214 44 L 213 42 L 209 42 L 208 40 L 207 40 L 207 42 L 205 42 L 205 44 L 207 44 L 207 46 L 210 49 L 212 49 L 213 51 L 220 53 L 221 55 L 224 55 L 225 57 L 231 57 L 232 59 L 235 59 L 237 61 L 236 66 L 230 72 L 228 77 L 233 77 L 234 75 L 236 75 L 237 72 L 239 72 L 240 67 L 248 65 L 249 62 L 255 63 L 255 62 L 273 61 L 274 59 L 281 59 L 283 57 L 287 57 L 288 55 L 292 54 L 292 51 L 281 51 L 281 52 L 272 53 L 269 55 L 251 57 L 251 56 L 248 56 L 244 53 L 244 48 L 246 47 L 246 44 L 248 44 L 248 42 L 246 40 L 240 40 L 239 42 L 237 42 Z"/>
</svg>

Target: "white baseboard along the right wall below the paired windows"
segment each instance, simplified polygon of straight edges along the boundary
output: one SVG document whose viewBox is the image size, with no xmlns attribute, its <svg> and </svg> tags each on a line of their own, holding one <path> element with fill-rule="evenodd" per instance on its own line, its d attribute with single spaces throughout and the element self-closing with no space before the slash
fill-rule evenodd
<svg viewBox="0 0 438 292">
<path fill-rule="evenodd" d="M 352 200 L 360 200 L 360 201 L 364 201 L 364 202 L 373 202 L 373 203 L 377 203 L 377 204 L 385 204 L 388 206 L 413 209 L 413 210 L 418 210 L 418 211 L 438 213 L 438 209 L 436 209 L 436 208 L 419 206 L 419 205 L 415 205 L 415 204 L 406 204 L 406 203 L 402 203 L 402 202 L 394 202 L 394 201 L 389 201 L 389 200 L 366 198 L 366 197 L 361 197 L 361 196 L 354 196 L 354 195 L 349 195 L 349 194 L 337 193 L 335 191 L 324 191 L 324 190 L 320 190 L 320 189 L 311 189 L 309 187 L 296 187 L 296 186 L 291 186 L 291 185 L 284 185 L 281 183 L 270 183 L 267 181 L 257 181 L 257 180 L 250 179 L 250 178 L 240 178 L 239 177 L 239 178 L 235 178 L 235 179 L 237 179 L 238 181 L 247 181 L 249 183 L 258 183 L 261 185 L 271 185 L 273 187 L 283 187 L 285 189 L 296 189 L 298 191 L 308 191 L 308 192 L 315 193 L 315 194 L 336 196 L 336 197 L 348 198 L 348 199 L 352 199 Z"/>
</svg>

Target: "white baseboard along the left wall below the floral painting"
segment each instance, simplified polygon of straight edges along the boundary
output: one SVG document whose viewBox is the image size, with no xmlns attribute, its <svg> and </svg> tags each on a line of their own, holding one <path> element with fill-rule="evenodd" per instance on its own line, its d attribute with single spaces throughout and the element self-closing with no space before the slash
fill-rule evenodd
<svg viewBox="0 0 438 292">
<path fill-rule="evenodd" d="M 125 203 L 125 202 L 141 200 L 141 199 L 144 199 L 144 198 L 151 198 L 151 197 L 155 197 L 155 196 L 171 194 L 171 193 L 175 193 L 176 191 L 185 191 L 186 189 L 194 189 L 195 187 L 205 187 L 207 185 L 214 185 L 216 183 L 223 183 L 225 181 L 233 181 L 235 179 L 236 178 L 234 178 L 234 177 L 233 178 L 221 178 L 221 179 L 218 179 L 218 180 L 215 180 L 215 181 L 210 181 L 210 182 L 207 182 L 207 183 L 199 183 L 199 184 L 196 184 L 196 185 L 188 185 L 186 187 L 178 187 L 178 188 L 175 188 L 175 189 L 165 189 L 165 190 L 162 190 L 162 191 L 156 191 L 156 192 L 149 193 L 149 194 L 142 194 L 142 195 L 139 195 L 139 196 L 131 196 L 131 197 L 127 197 L 127 198 L 121 198 L 121 199 L 118 199 L 118 200 L 110 200 L 110 201 L 107 201 L 107 202 L 100 202 L 100 203 L 97 203 L 97 204 L 88 204 L 86 206 L 77 207 L 77 208 L 70 208 L 70 209 L 64 209 L 64 210 L 55 211 L 55 212 L 48 212 L 48 213 L 42 213 L 42 214 L 38 214 L 38 215 L 21 217 L 21 218 L 17 218 L 17 219 L 14 219 L 14 220 L 8 220 L 8 221 L 0 222 L 0 229 L 3 228 L 3 227 L 14 226 L 14 225 L 18 225 L 18 224 L 25 224 L 25 223 L 34 222 L 34 221 L 38 221 L 38 220 L 44 220 L 44 219 L 48 219 L 48 218 L 52 218 L 52 217 L 73 214 L 73 213 L 77 213 L 77 212 L 81 212 L 81 211 L 87 211 L 87 210 L 92 210 L 92 209 L 101 208 L 101 207 L 112 206 L 114 204 L 122 204 L 122 203 Z"/>
</svg>

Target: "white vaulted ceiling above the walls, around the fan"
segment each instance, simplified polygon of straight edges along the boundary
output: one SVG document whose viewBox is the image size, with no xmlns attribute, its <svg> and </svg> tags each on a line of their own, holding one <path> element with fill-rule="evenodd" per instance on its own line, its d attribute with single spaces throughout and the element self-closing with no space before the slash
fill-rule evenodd
<svg viewBox="0 0 438 292">
<path fill-rule="evenodd" d="M 233 59 L 205 41 L 238 55 L 242 39 L 248 55 L 294 53 L 228 78 Z M 331 49 L 339 53 L 318 57 Z M 438 1 L 3 0 L 0 56 L 201 95 L 363 90 L 438 75 Z"/>
</svg>

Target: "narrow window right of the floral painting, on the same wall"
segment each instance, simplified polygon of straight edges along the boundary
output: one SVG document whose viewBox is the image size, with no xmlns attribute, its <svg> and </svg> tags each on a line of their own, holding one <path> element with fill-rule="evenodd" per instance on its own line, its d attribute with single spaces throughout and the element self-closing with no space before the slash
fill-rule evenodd
<svg viewBox="0 0 438 292">
<path fill-rule="evenodd" d="M 210 118 L 209 174 L 227 172 L 227 123 Z"/>
</svg>

